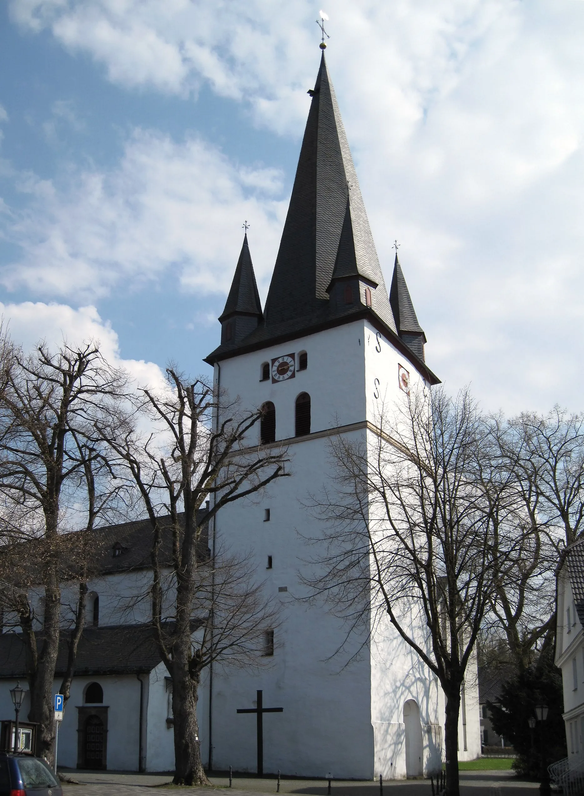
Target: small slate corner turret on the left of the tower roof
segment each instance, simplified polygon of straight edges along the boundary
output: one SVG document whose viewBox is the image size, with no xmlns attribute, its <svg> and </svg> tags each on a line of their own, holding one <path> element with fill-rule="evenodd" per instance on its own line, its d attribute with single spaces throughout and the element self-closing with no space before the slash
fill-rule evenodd
<svg viewBox="0 0 584 796">
<path fill-rule="evenodd" d="M 262 304 L 259 301 L 258 286 L 255 282 L 254 267 L 251 263 L 247 232 L 237 261 L 232 287 L 219 316 L 221 323 L 221 344 L 236 345 L 247 334 L 255 330 L 262 319 Z"/>
</svg>

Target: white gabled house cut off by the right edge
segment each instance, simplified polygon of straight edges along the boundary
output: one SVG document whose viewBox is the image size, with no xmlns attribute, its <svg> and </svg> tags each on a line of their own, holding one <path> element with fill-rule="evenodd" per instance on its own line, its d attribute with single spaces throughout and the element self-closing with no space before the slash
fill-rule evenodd
<svg viewBox="0 0 584 796">
<path fill-rule="evenodd" d="M 584 755 L 584 540 L 572 544 L 558 572 L 555 665 L 562 669 L 568 757 Z"/>
</svg>

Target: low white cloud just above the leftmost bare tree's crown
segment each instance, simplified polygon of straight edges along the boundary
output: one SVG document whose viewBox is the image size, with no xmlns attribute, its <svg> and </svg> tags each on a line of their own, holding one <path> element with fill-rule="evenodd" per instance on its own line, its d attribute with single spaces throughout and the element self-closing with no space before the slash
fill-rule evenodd
<svg viewBox="0 0 584 796">
<path fill-rule="evenodd" d="M 111 365 L 125 368 L 136 384 L 156 387 L 164 384 L 162 371 L 154 362 L 123 359 L 118 335 L 108 322 L 99 317 L 95 306 L 81 306 L 75 310 L 67 304 L 0 302 L 0 316 L 10 337 L 25 350 L 33 349 L 39 340 L 45 340 L 53 350 L 64 340 L 69 345 L 95 340 L 99 341 L 106 360 Z"/>
</svg>

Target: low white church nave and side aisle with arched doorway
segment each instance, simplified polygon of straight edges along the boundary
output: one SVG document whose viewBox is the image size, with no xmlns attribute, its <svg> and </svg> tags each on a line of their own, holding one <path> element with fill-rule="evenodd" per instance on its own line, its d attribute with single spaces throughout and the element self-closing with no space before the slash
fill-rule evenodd
<svg viewBox="0 0 584 796">
<path fill-rule="evenodd" d="M 164 529 L 164 518 L 162 525 Z M 91 532 L 91 537 L 95 576 L 88 582 L 86 627 L 59 731 L 59 764 L 71 768 L 172 771 L 172 685 L 148 624 L 150 521 L 97 529 Z M 170 534 L 163 533 L 161 561 L 167 567 L 169 540 Z M 208 555 L 206 545 L 204 537 L 201 557 Z M 69 597 L 74 604 L 75 588 L 68 594 L 64 587 L 62 593 L 64 605 Z M 64 630 L 54 693 L 58 693 L 64 674 L 67 640 L 68 631 Z M 0 634 L 2 720 L 14 718 L 10 689 L 18 679 L 27 689 L 25 671 L 25 647 L 20 635 L 3 632 Z M 200 700 L 202 712 L 206 710 L 206 700 L 204 692 Z M 26 720 L 28 712 L 26 691 L 21 720 Z"/>
</svg>

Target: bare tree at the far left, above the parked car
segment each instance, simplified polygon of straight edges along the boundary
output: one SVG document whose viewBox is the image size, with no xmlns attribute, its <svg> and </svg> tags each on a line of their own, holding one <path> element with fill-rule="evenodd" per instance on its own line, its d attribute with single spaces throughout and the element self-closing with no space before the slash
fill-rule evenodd
<svg viewBox="0 0 584 796">
<path fill-rule="evenodd" d="M 61 585 L 79 583 L 68 634 L 62 693 L 68 697 L 84 626 L 87 550 L 84 532 L 107 517 L 125 489 L 115 482 L 109 449 L 95 422 L 120 415 L 127 378 L 89 342 L 45 343 L 26 354 L 2 341 L 0 495 L 5 529 L 0 599 L 5 624 L 21 630 L 29 681 L 29 720 L 40 725 L 41 754 L 53 757 L 53 680 L 64 622 Z M 67 537 L 64 537 L 64 533 Z"/>
</svg>

